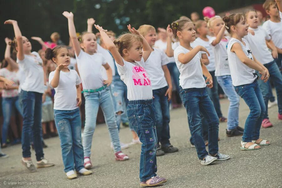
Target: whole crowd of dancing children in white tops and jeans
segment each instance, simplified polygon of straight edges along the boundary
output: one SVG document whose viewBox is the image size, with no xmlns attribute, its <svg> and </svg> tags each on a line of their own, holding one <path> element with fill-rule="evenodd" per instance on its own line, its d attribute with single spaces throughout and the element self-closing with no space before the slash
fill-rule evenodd
<svg viewBox="0 0 282 188">
<path fill-rule="evenodd" d="M 178 151 L 170 143 L 174 87 L 186 109 L 191 145 L 202 165 L 231 158 L 219 153 L 220 122 L 227 122 L 227 137 L 243 135 L 241 150 L 270 145 L 269 140 L 260 138 L 260 128 L 273 126 L 268 116 L 270 80 L 276 89 L 278 119 L 282 120 L 282 0 L 266 0 L 263 7 L 270 19 L 262 26 L 261 13 L 255 10 L 204 20 L 194 12 L 191 19 L 183 16 L 166 30 L 158 28 L 158 34 L 151 25 L 135 29 L 129 24 L 129 32 L 118 38 L 96 25 L 93 18 L 87 20 L 87 31 L 77 37 L 73 13 L 64 12 L 70 46 L 60 41 L 57 32 L 52 33 L 52 42 L 32 37 L 42 45 L 38 53 L 32 52 L 17 21 L 5 21 L 13 26 L 15 38 L 5 38 L 5 60 L 0 69 L 2 147 L 7 146 L 11 124 L 14 143 L 22 143 L 22 164 L 36 172 L 37 168 L 54 166 L 44 157 L 43 138 L 59 135 L 67 178 L 90 175 L 94 160 L 91 144 L 101 107 L 115 160 L 129 159 L 122 152 L 129 145 L 119 138 L 120 124 L 128 124 L 132 144 L 142 144 L 140 185 L 165 183 L 166 178 L 157 175 L 156 156 Z M 92 32 L 93 26 L 99 34 Z M 11 47 L 16 57 L 11 55 Z M 220 108 L 219 88 L 230 101 L 227 118 Z M 250 109 L 244 128 L 238 126 L 239 97 Z M 21 134 L 12 122 L 15 112 L 23 119 L 19 121 Z M 5 157 L 8 155 L 0 148 L 0 158 Z"/>
</svg>

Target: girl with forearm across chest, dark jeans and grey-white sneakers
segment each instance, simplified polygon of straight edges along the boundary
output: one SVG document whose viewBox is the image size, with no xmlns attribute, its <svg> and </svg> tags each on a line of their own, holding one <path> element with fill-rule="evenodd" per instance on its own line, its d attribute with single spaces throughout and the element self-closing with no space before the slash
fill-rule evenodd
<svg viewBox="0 0 282 188">
<path fill-rule="evenodd" d="M 201 53 L 209 55 L 206 48 L 196 46 L 191 48 L 190 43 L 196 39 L 194 24 L 190 19 L 180 19 L 171 24 L 174 37 L 180 45 L 174 50 L 174 58 L 180 71 L 180 97 L 186 108 L 189 128 L 193 142 L 196 146 L 198 158 L 202 165 L 209 165 L 215 160 L 227 160 L 229 155 L 218 153 L 218 125 L 219 119 L 206 92 L 206 86 L 212 88 L 212 75 L 201 62 Z M 206 76 L 206 80 L 203 77 Z M 206 84 L 209 82 L 209 84 Z M 206 151 L 202 137 L 202 123 L 200 112 L 208 121 L 208 146 Z"/>
</svg>

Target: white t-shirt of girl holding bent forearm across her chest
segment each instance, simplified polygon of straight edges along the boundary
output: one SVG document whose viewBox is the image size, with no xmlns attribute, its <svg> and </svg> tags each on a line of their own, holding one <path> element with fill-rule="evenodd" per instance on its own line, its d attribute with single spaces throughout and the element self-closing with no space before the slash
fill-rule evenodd
<svg viewBox="0 0 282 188">
<path fill-rule="evenodd" d="M 206 81 L 203 77 L 203 70 L 201 67 L 201 52 L 198 52 L 195 57 L 187 64 L 182 64 L 178 60 L 180 53 L 188 53 L 190 50 L 183 46 L 178 46 L 174 50 L 174 58 L 177 68 L 179 69 L 179 83 L 183 89 L 187 88 L 205 88 Z"/>
</svg>

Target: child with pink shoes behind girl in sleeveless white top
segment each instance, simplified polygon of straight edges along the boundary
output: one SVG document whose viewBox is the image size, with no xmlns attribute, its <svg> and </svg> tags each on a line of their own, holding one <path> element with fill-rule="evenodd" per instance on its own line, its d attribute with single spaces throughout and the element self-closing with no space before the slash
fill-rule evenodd
<svg viewBox="0 0 282 188">
<path fill-rule="evenodd" d="M 270 78 L 274 82 L 277 94 L 279 111 L 278 119 L 282 119 L 282 75 L 274 60 L 274 58 L 277 58 L 278 55 L 277 49 L 264 28 L 259 27 L 259 18 L 256 11 L 250 10 L 245 14 L 245 16 L 250 27 L 249 29 L 252 29 L 255 34 L 251 35 L 249 33 L 244 38 L 248 41 L 253 55 L 255 55 L 258 61 L 261 62 L 269 71 Z M 272 53 L 267 48 L 266 41 L 272 50 Z M 258 83 L 264 96 L 264 104 L 265 106 L 268 106 L 269 81 L 264 82 L 263 80 L 258 80 Z M 261 126 L 264 128 L 272 127 L 272 123 L 269 121 L 268 117 L 268 108 L 266 108 Z"/>
</svg>

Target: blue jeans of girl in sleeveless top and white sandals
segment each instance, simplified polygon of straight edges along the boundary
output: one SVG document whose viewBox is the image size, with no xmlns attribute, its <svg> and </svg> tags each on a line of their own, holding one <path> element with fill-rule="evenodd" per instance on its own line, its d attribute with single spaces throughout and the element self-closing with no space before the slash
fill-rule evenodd
<svg viewBox="0 0 282 188">
<path fill-rule="evenodd" d="M 265 114 L 264 98 L 259 88 L 259 84 L 257 80 L 255 80 L 251 84 L 234 87 L 238 95 L 244 99 L 250 108 L 250 114 L 246 119 L 242 140 L 243 142 L 258 140 L 260 126 Z"/>
</svg>

